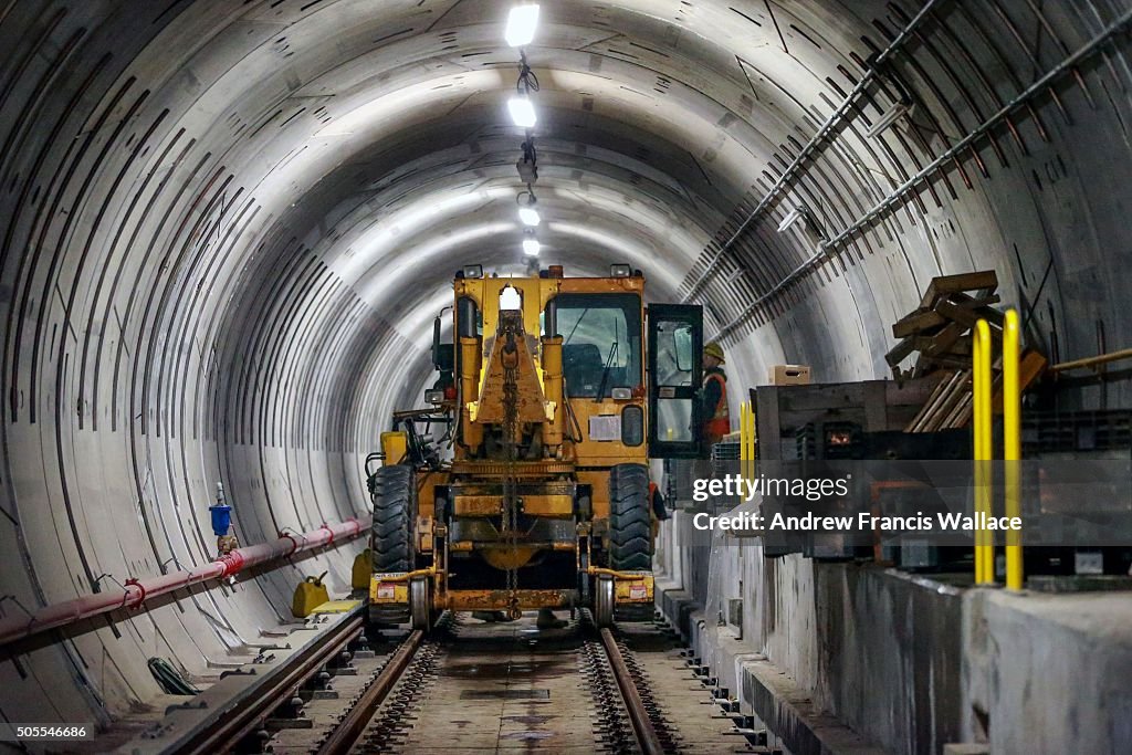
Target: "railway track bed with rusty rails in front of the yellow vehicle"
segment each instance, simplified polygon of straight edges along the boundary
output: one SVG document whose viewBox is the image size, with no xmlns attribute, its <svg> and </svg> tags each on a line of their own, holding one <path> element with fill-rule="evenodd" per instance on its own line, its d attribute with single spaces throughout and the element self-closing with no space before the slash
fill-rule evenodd
<svg viewBox="0 0 1132 755">
<path fill-rule="evenodd" d="M 530 618 L 446 615 L 432 633 L 411 632 L 374 652 L 357 650 L 365 647 L 359 616 L 178 752 L 769 752 L 736 739 L 737 717 L 704 705 L 713 697 L 692 686 L 702 680 L 674 654 L 670 636 L 627 626 L 597 629 L 583 612 L 540 632 Z M 312 694 L 311 680 L 336 659 L 345 666 Z"/>
</svg>

